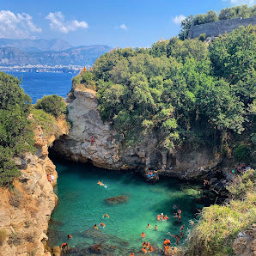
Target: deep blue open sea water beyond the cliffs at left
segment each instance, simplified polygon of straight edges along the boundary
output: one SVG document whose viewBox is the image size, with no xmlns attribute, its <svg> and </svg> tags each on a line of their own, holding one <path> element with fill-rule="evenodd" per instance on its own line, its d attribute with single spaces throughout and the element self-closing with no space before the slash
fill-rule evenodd
<svg viewBox="0 0 256 256">
<path fill-rule="evenodd" d="M 36 103 L 44 95 L 57 94 L 66 98 L 70 92 L 71 79 L 76 74 L 65 73 L 21 73 L 6 72 L 10 75 L 22 78 L 21 88 L 32 98 L 32 103 Z"/>
</svg>

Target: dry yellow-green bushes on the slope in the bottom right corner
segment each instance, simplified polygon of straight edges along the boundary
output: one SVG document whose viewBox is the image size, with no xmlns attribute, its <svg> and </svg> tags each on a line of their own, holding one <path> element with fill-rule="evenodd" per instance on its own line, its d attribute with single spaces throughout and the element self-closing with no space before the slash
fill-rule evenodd
<svg viewBox="0 0 256 256">
<path fill-rule="evenodd" d="M 256 171 L 236 177 L 228 190 L 231 201 L 225 205 L 204 208 L 198 224 L 192 230 L 189 255 L 233 255 L 232 244 L 241 229 L 255 222 Z"/>
</svg>

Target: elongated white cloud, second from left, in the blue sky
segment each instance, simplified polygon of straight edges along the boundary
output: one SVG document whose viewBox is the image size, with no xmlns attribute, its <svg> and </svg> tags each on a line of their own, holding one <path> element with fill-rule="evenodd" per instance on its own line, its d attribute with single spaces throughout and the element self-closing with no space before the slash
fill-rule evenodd
<svg viewBox="0 0 256 256">
<path fill-rule="evenodd" d="M 46 19 L 51 21 L 50 27 L 52 30 L 57 30 L 64 34 L 69 33 L 70 31 L 76 31 L 77 28 L 88 28 L 88 23 L 85 21 L 65 21 L 65 16 L 61 11 L 50 12 Z"/>
</svg>

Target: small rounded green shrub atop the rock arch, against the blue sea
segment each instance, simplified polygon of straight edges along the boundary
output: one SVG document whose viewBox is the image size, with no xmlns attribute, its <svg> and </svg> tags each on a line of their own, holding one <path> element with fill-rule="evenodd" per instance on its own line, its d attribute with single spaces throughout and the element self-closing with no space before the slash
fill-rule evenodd
<svg viewBox="0 0 256 256">
<path fill-rule="evenodd" d="M 37 101 L 34 107 L 36 109 L 43 109 L 46 113 L 52 114 L 55 118 L 67 113 L 64 99 L 56 94 L 44 96 Z"/>
</svg>

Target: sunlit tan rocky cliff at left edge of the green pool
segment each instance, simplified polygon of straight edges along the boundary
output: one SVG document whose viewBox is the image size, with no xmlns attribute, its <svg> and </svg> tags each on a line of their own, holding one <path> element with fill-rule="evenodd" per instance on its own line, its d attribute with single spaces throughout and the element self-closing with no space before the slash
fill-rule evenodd
<svg viewBox="0 0 256 256">
<path fill-rule="evenodd" d="M 68 131 L 64 120 L 58 121 L 61 134 Z M 40 126 L 35 131 L 36 153 L 15 158 L 21 176 L 14 188 L 1 188 L 0 255 L 44 255 L 44 242 L 52 210 L 58 202 L 53 192 L 58 174 L 48 157 L 48 147 L 56 139 L 45 137 Z M 47 174 L 53 174 L 50 183 Z"/>
</svg>

